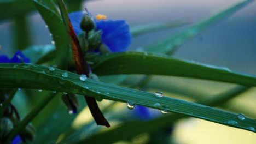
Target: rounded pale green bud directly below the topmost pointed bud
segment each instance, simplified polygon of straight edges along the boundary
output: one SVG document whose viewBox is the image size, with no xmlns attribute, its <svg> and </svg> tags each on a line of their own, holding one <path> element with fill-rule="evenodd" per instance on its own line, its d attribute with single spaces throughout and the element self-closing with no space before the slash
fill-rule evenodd
<svg viewBox="0 0 256 144">
<path fill-rule="evenodd" d="M 91 31 L 88 34 L 89 49 L 97 49 L 101 42 L 102 31 Z"/>
</svg>

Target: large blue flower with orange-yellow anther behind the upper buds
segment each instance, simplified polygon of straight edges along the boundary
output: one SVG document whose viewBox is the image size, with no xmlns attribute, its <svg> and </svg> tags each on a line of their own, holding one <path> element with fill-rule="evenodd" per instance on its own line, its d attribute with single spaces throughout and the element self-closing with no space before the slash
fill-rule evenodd
<svg viewBox="0 0 256 144">
<path fill-rule="evenodd" d="M 80 23 L 83 18 L 82 12 L 69 14 L 74 27 L 75 34 L 82 33 Z M 131 44 L 132 35 L 129 25 L 124 20 L 106 20 L 106 16 L 97 16 L 101 19 L 94 19 L 96 28 L 102 31 L 102 42 L 108 46 L 111 52 L 125 52 Z"/>
</svg>

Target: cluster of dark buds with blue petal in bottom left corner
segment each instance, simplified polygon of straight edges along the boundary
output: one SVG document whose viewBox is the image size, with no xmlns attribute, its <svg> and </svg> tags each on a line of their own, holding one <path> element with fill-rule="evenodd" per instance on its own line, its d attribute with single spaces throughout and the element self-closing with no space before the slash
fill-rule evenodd
<svg viewBox="0 0 256 144">
<path fill-rule="evenodd" d="M 2 93 L 3 94 L 3 93 Z M 1 103 L 8 98 L 8 94 L 4 93 L 1 97 Z M 20 116 L 16 107 L 10 104 L 5 110 L 4 115 L 0 118 L 0 143 L 5 142 L 10 132 L 20 123 Z M 20 131 L 19 135 L 15 137 L 13 143 L 20 143 L 26 141 L 33 141 L 36 136 L 36 130 L 33 125 L 29 123 L 26 128 Z"/>
</svg>

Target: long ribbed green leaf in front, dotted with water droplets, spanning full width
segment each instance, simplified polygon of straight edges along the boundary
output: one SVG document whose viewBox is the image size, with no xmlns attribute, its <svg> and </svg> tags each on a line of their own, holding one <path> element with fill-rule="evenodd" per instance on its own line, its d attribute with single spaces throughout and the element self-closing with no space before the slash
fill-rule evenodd
<svg viewBox="0 0 256 144">
<path fill-rule="evenodd" d="M 63 72 L 65 71 L 60 69 L 50 71 L 48 67 L 34 64 L 0 63 L 0 87 L 34 88 L 74 94 L 86 94 L 90 95 L 90 97 L 101 96 L 103 99 L 124 103 L 132 101 L 132 103 L 137 105 L 159 110 L 165 109 L 169 112 L 181 113 L 230 127 L 256 132 L 254 119 L 246 117 L 245 120 L 238 121 L 236 113 L 170 97 L 159 98 L 153 93 L 110 85 L 91 79 L 80 81 L 79 75 L 74 73 L 68 72 L 68 77 L 62 77 Z M 230 121 L 236 121 L 237 124 L 230 123 Z"/>
</svg>

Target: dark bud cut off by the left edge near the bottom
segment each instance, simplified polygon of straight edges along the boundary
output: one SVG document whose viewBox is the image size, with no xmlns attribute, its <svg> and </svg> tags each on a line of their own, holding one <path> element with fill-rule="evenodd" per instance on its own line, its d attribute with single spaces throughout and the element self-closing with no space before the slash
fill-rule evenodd
<svg viewBox="0 0 256 144">
<path fill-rule="evenodd" d="M 13 122 L 9 118 L 0 119 L 0 141 L 5 139 L 8 133 L 13 129 Z"/>
</svg>

